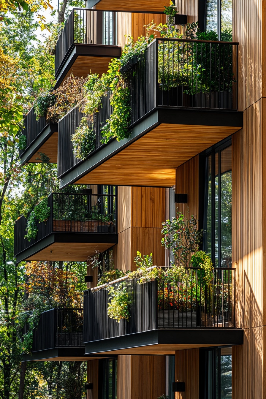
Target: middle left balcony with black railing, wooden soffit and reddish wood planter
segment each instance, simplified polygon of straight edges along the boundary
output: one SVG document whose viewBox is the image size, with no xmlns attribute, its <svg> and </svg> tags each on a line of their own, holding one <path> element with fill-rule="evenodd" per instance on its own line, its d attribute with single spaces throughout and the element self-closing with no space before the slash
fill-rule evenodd
<svg viewBox="0 0 266 399">
<path fill-rule="evenodd" d="M 116 195 L 52 193 L 50 215 L 38 222 L 35 238 L 25 238 L 27 218 L 14 226 L 17 263 L 32 261 L 86 261 L 95 251 L 118 243 Z"/>
</svg>

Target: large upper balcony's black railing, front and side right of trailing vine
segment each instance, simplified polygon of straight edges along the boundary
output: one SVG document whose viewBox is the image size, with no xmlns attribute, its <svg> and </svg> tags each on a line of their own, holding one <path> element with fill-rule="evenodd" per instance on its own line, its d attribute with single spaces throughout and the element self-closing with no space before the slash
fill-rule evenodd
<svg viewBox="0 0 266 399">
<path fill-rule="evenodd" d="M 237 110 L 238 43 L 155 39 L 130 73 L 132 124 L 156 107 Z"/>
</svg>

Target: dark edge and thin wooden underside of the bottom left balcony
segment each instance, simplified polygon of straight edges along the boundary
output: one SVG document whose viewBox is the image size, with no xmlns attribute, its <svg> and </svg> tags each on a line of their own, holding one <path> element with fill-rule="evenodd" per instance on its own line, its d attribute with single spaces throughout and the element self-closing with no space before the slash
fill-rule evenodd
<svg viewBox="0 0 266 399">
<path fill-rule="evenodd" d="M 88 357 L 84 355 L 85 348 L 52 348 L 32 352 L 31 355 L 23 354 L 22 361 L 87 361 L 101 359 L 98 357 Z"/>
</svg>

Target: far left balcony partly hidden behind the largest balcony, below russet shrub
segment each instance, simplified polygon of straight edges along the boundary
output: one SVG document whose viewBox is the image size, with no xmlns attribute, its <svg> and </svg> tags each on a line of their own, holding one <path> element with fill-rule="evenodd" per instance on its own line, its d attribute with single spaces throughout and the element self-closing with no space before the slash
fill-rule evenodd
<svg viewBox="0 0 266 399">
<path fill-rule="evenodd" d="M 57 163 L 58 124 L 50 123 L 45 117 L 37 120 L 32 108 L 24 120 L 22 133 L 26 136 L 26 146 L 20 150 L 22 164 L 41 162 L 39 153 L 47 155 L 51 163 Z"/>
</svg>

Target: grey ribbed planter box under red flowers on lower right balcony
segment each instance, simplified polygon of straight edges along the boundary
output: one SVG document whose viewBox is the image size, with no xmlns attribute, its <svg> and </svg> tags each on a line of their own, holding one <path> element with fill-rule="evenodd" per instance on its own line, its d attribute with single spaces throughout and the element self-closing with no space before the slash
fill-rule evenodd
<svg viewBox="0 0 266 399">
<path fill-rule="evenodd" d="M 197 327 L 197 312 L 158 310 L 158 328 Z"/>
</svg>

